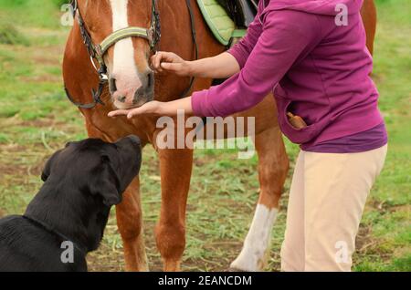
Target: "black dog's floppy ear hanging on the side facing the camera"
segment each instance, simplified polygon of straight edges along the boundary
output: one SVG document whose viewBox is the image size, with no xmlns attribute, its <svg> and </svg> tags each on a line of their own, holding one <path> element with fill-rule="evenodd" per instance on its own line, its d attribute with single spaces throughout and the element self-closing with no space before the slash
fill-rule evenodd
<svg viewBox="0 0 411 290">
<path fill-rule="evenodd" d="M 96 176 L 94 181 L 90 182 L 90 192 L 93 195 L 100 195 L 103 203 L 111 207 L 122 201 L 120 178 L 112 168 L 110 158 L 107 155 L 102 155 L 101 161 L 99 177 Z"/>
</svg>

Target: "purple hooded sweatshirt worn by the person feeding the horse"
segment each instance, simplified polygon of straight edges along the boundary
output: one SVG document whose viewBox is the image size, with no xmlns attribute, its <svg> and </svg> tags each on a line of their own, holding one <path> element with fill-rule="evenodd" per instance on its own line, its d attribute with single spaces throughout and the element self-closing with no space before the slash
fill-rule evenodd
<svg viewBox="0 0 411 290">
<path fill-rule="evenodd" d="M 241 71 L 196 92 L 195 115 L 226 117 L 256 106 L 273 90 L 279 126 L 302 149 L 367 131 L 377 148 L 385 145 L 378 92 L 369 77 L 373 60 L 365 46 L 362 5 L 362 0 L 261 0 L 248 35 L 228 51 Z M 342 11 L 347 23 L 337 16 Z M 288 111 L 308 127 L 295 129 Z"/>
</svg>

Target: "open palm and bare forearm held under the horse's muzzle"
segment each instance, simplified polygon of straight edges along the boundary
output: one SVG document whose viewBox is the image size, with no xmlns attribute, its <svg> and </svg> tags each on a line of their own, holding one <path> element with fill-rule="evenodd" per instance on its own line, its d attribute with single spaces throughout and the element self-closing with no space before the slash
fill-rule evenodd
<svg viewBox="0 0 411 290">
<path fill-rule="evenodd" d="M 109 117 L 127 116 L 128 119 L 132 119 L 133 117 L 141 115 L 176 116 L 179 113 L 184 113 L 186 116 L 193 114 L 191 97 L 166 103 L 153 100 L 142 105 L 140 108 L 114 110 L 109 113 Z"/>
</svg>

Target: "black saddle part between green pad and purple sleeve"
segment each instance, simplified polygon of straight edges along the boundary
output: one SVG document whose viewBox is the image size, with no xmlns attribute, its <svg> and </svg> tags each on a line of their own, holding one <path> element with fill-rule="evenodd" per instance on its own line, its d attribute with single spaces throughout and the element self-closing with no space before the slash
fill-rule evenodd
<svg viewBox="0 0 411 290">
<path fill-rule="evenodd" d="M 237 27 L 248 27 L 257 15 L 259 0 L 217 0 Z"/>
</svg>

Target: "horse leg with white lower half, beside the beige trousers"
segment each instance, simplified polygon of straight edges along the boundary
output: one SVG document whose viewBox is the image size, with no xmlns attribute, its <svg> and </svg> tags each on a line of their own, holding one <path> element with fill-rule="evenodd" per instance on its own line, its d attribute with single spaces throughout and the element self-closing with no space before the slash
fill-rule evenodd
<svg viewBox="0 0 411 290">
<path fill-rule="evenodd" d="M 278 127 L 256 136 L 260 194 L 253 222 L 241 254 L 232 269 L 255 272 L 267 266 L 272 227 L 279 212 L 279 198 L 289 170 L 289 159 Z"/>
</svg>

